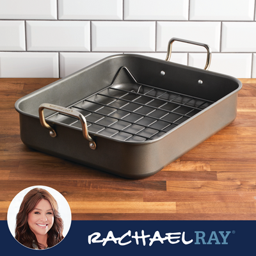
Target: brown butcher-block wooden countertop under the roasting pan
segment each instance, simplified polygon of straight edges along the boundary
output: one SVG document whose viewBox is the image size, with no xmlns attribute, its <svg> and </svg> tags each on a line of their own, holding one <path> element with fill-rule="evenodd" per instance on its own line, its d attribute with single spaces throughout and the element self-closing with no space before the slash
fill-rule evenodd
<svg viewBox="0 0 256 256">
<path fill-rule="evenodd" d="M 256 220 L 256 79 L 241 79 L 237 118 L 161 172 L 129 180 L 27 148 L 20 97 L 57 79 L 0 79 L 0 220 L 13 197 L 49 186 L 72 220 Z"/>
</svg>

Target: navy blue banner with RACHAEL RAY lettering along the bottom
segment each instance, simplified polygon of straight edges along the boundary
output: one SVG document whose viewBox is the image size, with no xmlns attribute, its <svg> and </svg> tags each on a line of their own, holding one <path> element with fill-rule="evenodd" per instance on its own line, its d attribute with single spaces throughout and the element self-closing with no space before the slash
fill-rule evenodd
<svg viewBox="0 0 256 256">
<path fill-rule="evenodd" d="M 19 244 L 7 221 L 0 221 L 0 244 L 10 255 L 244 255 L 255 251 L 255 226 L 256 221 L 72 221 L 61 243 L 38 252 Z"/>
</svg>

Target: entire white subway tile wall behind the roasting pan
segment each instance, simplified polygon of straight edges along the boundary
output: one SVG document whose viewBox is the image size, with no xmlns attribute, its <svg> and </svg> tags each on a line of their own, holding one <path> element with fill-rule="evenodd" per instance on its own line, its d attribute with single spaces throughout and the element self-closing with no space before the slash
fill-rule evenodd
<svg viewBox="0 0 256 256">
<path fill-rule="evenodd" d="M 256 0 L 0 0 L 0 77 L 64 77 L 116 53 L 164 60 L 208 44 L 209 70 L 256 78 Z M 171 61 L 203 68 L 175 42 Z"/>
</svg>

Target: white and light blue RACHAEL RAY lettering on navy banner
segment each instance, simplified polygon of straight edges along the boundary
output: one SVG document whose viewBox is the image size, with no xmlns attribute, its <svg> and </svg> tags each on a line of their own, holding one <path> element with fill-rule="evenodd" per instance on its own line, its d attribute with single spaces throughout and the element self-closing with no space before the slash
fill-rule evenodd
<svg viewBox="0 0 256 256">
<path fill-rule="evenodd" d="M 232 231 L 234 234 L 235 231 Z M 112 231 L 108 232 L 108 235 L 104 238 L 101 238 L 99 232 L 94 232 L 92 235 L 88 236 L 88 243 L 101 243 L 102 246 L 105 246 L 107 243 L 112 242 L 119 244 L 120 246 L 125 246 L 127 244 L 136 243 L 143 244 L 143 246 L 148 245 L 152 246 L 154 243 L 170 243 L 170 244 L 228 244 L 228 236 L 230 231 L 195 231 L 193 237 L 186 237 L 185 232 L 174 232 L 174 233 L 165 233 L 164 236 L 160 234 L 159 231 L 154 233 L 154 236 L 150 238 L 150 234 L 145 234 L 144 230 L 141 230 L 140 234 L 136 231 L 132 235 L 131 230 L 126 232 L 123 236 L 115 237 Z M 101 238 L 101 239 L 100 239 Z"/>
</svg>

